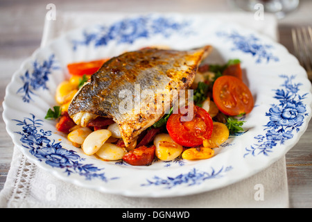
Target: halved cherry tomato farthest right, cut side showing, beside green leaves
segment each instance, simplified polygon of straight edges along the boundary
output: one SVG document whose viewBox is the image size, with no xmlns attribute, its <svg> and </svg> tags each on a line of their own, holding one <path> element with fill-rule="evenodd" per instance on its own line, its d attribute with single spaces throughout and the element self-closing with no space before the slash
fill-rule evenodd
<svg viewBox="0 0 312 222">
<path fill-rule="evenodd" d="M 245 83 L 234 76 L 220 76 L 212 88 L 214 103 L 226 115 L 247 114 L 254 108 L 254 99 Z"/>
</svg>

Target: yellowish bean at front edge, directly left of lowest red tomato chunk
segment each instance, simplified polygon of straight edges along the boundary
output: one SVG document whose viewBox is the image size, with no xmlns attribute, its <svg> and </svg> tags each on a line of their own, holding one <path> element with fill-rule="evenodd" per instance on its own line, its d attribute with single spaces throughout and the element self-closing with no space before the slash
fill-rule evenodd
<svg viewBox="0 0 312 222">
<path fill-rule="evenodd" d="M 101 157 L 103 160 L 121 160 L 125 153 L 127 153 L 125 148 L 116 146 L 115 144 L 105 143 L 96 152 L 96 155 Z"/>
</svg>

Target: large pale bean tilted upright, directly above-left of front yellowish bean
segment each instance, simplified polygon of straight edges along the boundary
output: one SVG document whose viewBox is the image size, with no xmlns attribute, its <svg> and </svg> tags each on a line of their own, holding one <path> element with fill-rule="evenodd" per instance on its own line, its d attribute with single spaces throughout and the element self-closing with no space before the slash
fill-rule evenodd
<svg viewBox="0 0 312 222">
<path fill-rule="evenodd" d="M 110 130 L 95 130 L 85 138 L 83 151 L 87 155 L 96 153 L 111 135 Z"/>
</svg>

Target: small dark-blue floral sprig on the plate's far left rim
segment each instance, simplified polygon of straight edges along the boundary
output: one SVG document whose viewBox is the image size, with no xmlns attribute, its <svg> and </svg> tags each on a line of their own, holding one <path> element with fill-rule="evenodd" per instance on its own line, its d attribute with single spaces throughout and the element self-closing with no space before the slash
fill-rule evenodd
<svg viewBox="0 0 312 222">
<path fill-rule="evenodd" d="M 31 95 L 35 95 L 35 91 L 39 89 L 48 89 L 46 82 L 53 69 L 60 69 L 55 65 L 55 56 L 51 55 L 48 60 L 44 60 L 41 64 L 37 60 L 33 62 L 33 70 L 26 70 L 24 76 L 20 76 L 23 81 L 23 87 L 17 90 L 17 94 L 22 94 L 24 103 L 29 103 Z"/>
</svg>

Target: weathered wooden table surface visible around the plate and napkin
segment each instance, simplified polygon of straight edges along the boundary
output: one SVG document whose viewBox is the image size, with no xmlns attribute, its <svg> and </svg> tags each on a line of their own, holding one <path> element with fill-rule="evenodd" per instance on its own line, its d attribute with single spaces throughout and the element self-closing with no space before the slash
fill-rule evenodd
<svg viewBox="0 0 312 222">
<path fill-rule="evenodd" d="M 147 3 L 148 2 L 148 3 Z M 0 0 L 0 99 L 12 74 L 40 46 L 48 3 L 60 11 L 103 12 L 230 12 L 228 1 L 212 0 L 104 0 L 39 1 Z M 312 1 L 301 0 L 300 7 L 278 21 L 279 42 L 293 53 L 291 28 L 312 26 Z M 1 117 L 3 108 L 0 108 Z M 312 121 L 300 141 L 286 154 L 290 207 L 312 207 Z M 13 144 L 0 118 L 0 190 L 10 169 Z"/>
</svg>

